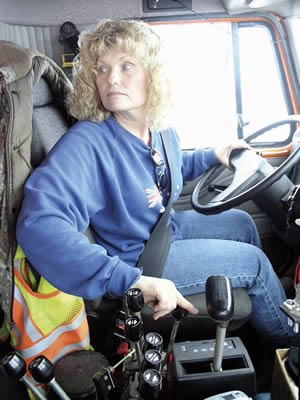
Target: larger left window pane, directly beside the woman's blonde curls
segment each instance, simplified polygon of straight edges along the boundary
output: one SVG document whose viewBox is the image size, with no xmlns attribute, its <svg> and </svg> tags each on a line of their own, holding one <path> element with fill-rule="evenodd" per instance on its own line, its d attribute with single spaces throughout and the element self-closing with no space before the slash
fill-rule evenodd
<svg viewBox="0 0 300 400">
<path fill-rule="evenodd" d="M 181 101 L 171 116 L 182 148 L 236 137 L 231 24 L 154 25 L 168 51 Z"/>
</svg>

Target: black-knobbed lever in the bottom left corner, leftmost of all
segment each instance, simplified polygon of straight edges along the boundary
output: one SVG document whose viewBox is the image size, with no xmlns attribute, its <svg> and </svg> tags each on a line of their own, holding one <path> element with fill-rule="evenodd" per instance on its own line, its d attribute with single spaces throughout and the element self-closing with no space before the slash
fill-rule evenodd
<svg viewBox="0 0 300 400">
<path fill-rule="evenodd" d="M 8 376 L 23 382 L 38 400 L 47 400 L 43 393 L 26 376 L 26 362 L 17 352 L 13 351 L 3 357 L 1 366 Z"/>
</svg>

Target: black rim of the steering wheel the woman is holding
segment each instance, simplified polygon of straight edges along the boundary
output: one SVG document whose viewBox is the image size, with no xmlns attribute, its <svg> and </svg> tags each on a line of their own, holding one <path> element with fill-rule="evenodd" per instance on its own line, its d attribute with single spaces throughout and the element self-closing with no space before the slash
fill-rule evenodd
<svg viewBox="0 0 300 400">
<path fill-rule="evenodd" d="M 253 140 L 254 138 L 262 135 L 263 133 L 267 132 L 268 130 L 271 130 L 277 126 L 286 124 L 286 123 L 295 123 L 295 122 L 300 122 L 300 115 L 292 115 L 289 116 L 288 118 L 282 119 L 280 121 L 277 121 L 275 123 L 272 123 L 259 131 L 254 132 L 252 135 L 250 135 L 246 140 L 249 142 L 250 140 Z M 244 151 L 251 151 L 251 150 L 244 150 Z M 259 157 L 257 155 L 257 157 Z M 288 158 L 277 168 L 273 169 L 273 172 L 270 173 L 268 176 L 260 180 L 258 183 L 255 183 L 253 186 L 250 188 L 242 191 L 241 193 L 237 194 L 236 196 L 233 196 L 227 200 L 222 200 L 222 201 L 215 201 L 212 199 L 209 203 L 207 204 L 200 204 L 199 203 L 199 193 L 200 190 L 202 189 L 203 186 L 203 180 L 200 180 L 192 193 L 192 206 L 193 208 L 203 214 L 217 214 L 222 211 L 229 210 L 231 208 L 237 207 L 241 203 L 244 203 L 250 199 L 252 199 L 254 196 L 257 196 L 259 193 L 262 191 L 268 189 L 271 185 L 273 185 L 276 181 L 278 181 L 283 175 L 287 173 L 287 171 L 290 170 L 290 168 L 295 165 L 298 161 L 300 160 L 300 146 L 298 146 L 289 156 Z M 235 171 L 236 173 L 236 171 Z M 231 186 L 231 185 L 230 185 Z M 229 188 L 230 188 L 229 186 Z"/>
</svg>

